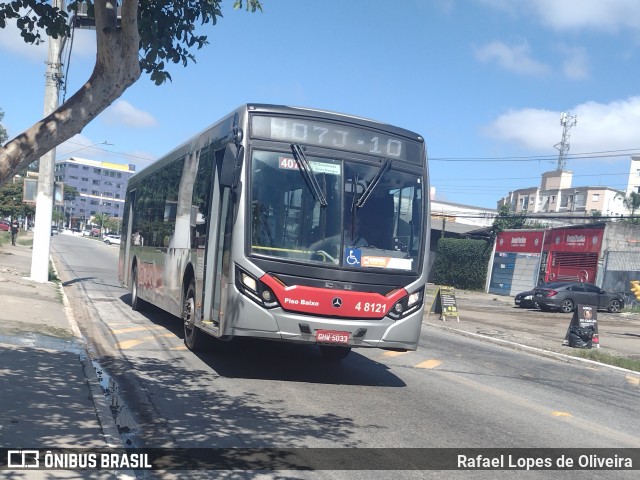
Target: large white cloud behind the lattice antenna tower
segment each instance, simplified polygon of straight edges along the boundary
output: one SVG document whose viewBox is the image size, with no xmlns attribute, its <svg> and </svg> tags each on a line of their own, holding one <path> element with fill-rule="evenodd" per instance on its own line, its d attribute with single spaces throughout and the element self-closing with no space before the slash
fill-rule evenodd
<svg viewBox="0 0 640 480">
<path fill-rule="evenodd" d="M 570 111 L 577 116 L 571 129 L 571 152 L 586 153 L 640 148 L 640 96 L 603 104 L 587 102 Z M 483 130 L 500 141 L 533 151 L 552 152 L 562 138 L 560 113 L 527 108 L 509 111 Z"/>
</svg>

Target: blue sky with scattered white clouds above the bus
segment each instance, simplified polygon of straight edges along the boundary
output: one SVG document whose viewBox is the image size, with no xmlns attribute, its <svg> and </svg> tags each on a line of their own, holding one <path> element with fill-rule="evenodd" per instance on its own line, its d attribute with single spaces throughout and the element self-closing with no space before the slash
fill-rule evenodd
<svg viewBox="0 0 640 480">
<path fill-rule="evenodd" d="M 436 199 L 483 208 L 540 185 L 558 164 L 561 113 L 572 187 L 625 190 L 640 155 L 637 0 L 262 0 L 233 10 L 173 81 L 146 74 L 56 149 L 137 170 L 244 103 L 367 117 L 422 135 Z M 9 138 L 44 111 L 46 45 L 0 30 Z M 95 33 L 76 32 L 66 98 L 89 78 Z M 106 142 L 109 145 L 96 145 Z M 87 147 L 94 145 L 92 147 Z M 83 148 L 84 147 L 84 148 Z"/>
</svg>

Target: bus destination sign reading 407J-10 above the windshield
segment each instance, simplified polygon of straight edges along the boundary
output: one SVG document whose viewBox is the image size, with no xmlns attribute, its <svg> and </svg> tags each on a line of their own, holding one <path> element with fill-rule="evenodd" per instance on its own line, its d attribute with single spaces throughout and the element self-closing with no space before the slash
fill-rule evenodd
<svg viewBox="0 0 640 480">
<path fill-rule="evenodd" d="M 298 117 L 254 115 L 251 136 L 281 142 L 338 148 L 352 152 L 420 163 L 420 144 L 402 137 L 344 123 Z"/>
</svg>

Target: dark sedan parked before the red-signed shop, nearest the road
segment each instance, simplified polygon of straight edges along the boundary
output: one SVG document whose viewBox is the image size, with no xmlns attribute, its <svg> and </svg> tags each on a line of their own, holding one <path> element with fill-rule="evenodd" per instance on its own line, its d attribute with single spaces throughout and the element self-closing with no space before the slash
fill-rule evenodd
<svg viewBox="0 0 640 480">
<path fill-rule="evenodd" d="M 572 312 L 576 305 L 592 305 L 600 310 L 619 312 L 624 307 L 622 292 L 607 292 L 590 283 L 552 282 L 533 290 L 541 310 Z"/>
</svg>

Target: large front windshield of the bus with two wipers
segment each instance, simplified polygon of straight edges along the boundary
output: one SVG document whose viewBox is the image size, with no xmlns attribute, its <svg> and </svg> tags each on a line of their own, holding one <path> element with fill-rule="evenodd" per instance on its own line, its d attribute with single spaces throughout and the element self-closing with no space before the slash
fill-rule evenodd
<svg viewBox="0 0 640 480">
<path fill-rule="evenodd" d="M 420 175 L 390 160 L 364 164 L 304 153 L 301 170 L 299 155 L 295 145 L 287 153 L 253 151 L 251 254 L 332 268 L 419 270 Z"/>
</svg>

